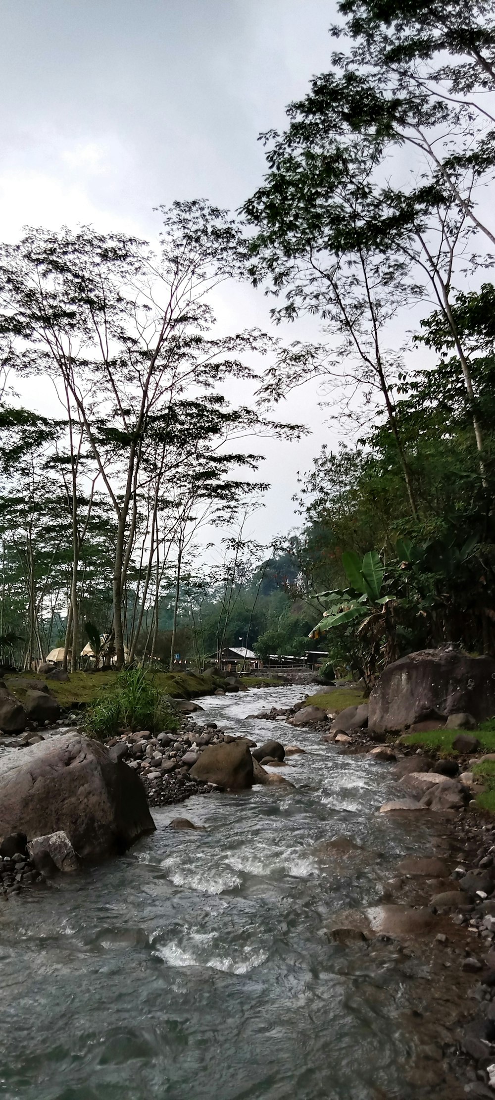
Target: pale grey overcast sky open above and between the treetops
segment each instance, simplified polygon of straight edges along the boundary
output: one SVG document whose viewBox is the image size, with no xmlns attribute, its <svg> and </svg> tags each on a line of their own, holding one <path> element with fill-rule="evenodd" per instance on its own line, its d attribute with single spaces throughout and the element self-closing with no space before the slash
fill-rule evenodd
<svg viewBox="0 0 495 1100">
<path fill-rule="evenodd" d="M 0 0 L 0 232 L 91 222 L 148 239 L 152 208 L 207 197 L 237 208 L 264 169 L 260 131 L 328 68 L 328 0 Z M 226 290 L 232 329 L 266 326 L 267 304 Z M 293 328 L 292 336 L 301 334 Z M 243 395 L 244 398 L 245 395 Z M 46 387 L 30 398 L 43 410 Z M 266 443 L 273 488 L 253 531 L 295 522 L 296 473 L 323 438 L 315 387 L 277 415 L 306 420 L 301 443 Z"/>
</svg>

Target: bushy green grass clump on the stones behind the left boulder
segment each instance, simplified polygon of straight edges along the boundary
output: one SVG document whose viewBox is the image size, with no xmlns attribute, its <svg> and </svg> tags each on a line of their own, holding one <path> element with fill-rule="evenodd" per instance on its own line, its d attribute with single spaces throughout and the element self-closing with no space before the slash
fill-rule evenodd
<svg viewBox="0 0 495 1100">
<path fill-rule="evenodd" d="M 122 729 L 177 729 L 179 719 L 169 697 L 156 688 L 144 669 L 119 672 L 117 682 L 103 688 L 86 711 L 85 727 L 105 741 Z"/>
</svg>

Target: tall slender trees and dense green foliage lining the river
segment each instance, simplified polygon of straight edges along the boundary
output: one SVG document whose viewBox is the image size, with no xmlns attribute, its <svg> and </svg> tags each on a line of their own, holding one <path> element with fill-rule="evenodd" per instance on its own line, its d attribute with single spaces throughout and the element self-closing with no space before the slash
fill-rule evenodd
<svg viewBox="0 0 495 1100">
<path fill-rule="evenodd" d="M 177 202 L 156 254 L 89 229 L 2 246 L 4 661 L 59 644 L 76 669 L 89 639 L 119 667 L 202 669 L 224 645 L 301 653 L 312 630 L 369 688 L 424 646 L 495 652 L 492 9 L 339 11 L 241 220 Z M 224 278 L 263 287 L 296 339 L 219 338 Z M 36 374 L 56 418 L 10 392 Z M 221 397 L 228 377 L 252 380 L 252 407 Z M 299 529 L 258 547 L 258 457 L 239 441 L 297 437 L 262 410 L 316 380 L 345 441 L 301 477 Z"/>
</svg>

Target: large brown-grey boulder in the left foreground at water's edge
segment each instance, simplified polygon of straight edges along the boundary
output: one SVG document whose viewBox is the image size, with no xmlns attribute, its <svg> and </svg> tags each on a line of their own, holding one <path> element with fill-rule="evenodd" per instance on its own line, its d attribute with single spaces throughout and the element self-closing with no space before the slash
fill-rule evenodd
<svg viewBox="0 0 495 1100">
<path fill-rule="evenodd" d="M 139 776 L 80 734 L 0 758 L 0 837 L 63 831 L 79 859 L 125 851 L 155 828 Z"/>
</svg>

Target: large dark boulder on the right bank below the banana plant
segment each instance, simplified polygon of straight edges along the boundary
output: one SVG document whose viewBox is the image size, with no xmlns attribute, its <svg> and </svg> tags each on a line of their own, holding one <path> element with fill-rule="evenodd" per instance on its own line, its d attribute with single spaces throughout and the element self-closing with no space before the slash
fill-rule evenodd
<svg viewBox="0 0 495 1100">
<path fill-rule="evenodd" d="M 386 668 L 370 695 L 369 722 L 383 732 L 427 718 L 443 724 L 466 712 L 476 722 L 495 714 L 495 660 L 453 649 L 424 649 Z"/>
</svg>

